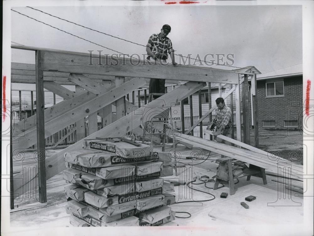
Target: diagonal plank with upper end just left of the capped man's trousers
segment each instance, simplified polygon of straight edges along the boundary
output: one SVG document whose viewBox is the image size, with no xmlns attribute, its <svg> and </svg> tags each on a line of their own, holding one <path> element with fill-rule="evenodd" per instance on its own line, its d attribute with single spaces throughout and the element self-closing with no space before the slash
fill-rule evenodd
<svg viewBox="0 0 314 236">
<path fill-rule="evenodd" d="M 75 106 L 73 109 L 66 110 L 66 112 L 64 112 L 62 115 L 46 122 L 45 136 L 48 137 L 52 135 L 55 131 L 65 128 L 73 124 L 73 122 L 84 118 L 86 115 L 94 113 L 100 108 L 111 104 L 116 99 L 123 97 L 124 93 L 141 87 L 143 83 L 146 83 L 145 80 L 140 78 L 134 78 L 133 80 L 128 81 L 121 86 L 108 91 L 105 94 L 96 96 L 96 98 L 91 99 L 90 101 L 83 102 Z M 26 131 L 23 137 L 14 138 L 13 140 L 19 140 L 18 144 L 14 144 L 14 148 L 27 148 L 33 145 L 33 142 L 35 140 L 34 133 L 34 130 Z"/>
</svg>

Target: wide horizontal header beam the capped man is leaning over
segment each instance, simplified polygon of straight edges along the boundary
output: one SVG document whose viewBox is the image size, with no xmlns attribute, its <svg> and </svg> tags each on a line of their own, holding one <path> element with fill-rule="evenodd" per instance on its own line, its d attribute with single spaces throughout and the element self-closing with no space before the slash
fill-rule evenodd
<svg viewBox="0 0 314 236">
<path fill-rule="evenodd" d="M 238 83 L 238 74 L 236 72 L 172 65 L 163 66 L 161 64 L 152 65 L 148 60 L 141 62 L 112 56 L 103 56 L 102 62 L 100 62 L 99 57 L 92 58 L 88 54 L 82 55 L 62 51 L 43 51 L 43 70 L 84 74 L 98 73 L 121 77 L 129 76 L 185 81 Z"/>
</svg>

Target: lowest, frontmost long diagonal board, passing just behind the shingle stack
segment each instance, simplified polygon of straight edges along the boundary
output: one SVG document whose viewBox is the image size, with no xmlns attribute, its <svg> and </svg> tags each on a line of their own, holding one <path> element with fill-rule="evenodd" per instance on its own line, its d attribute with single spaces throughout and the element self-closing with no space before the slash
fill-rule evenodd
<svg viewBox="0 0 314 236">
<path fill-rule="evenodd" d="M 133 127 L 138 127 L 142 124 L 142 114 L 138 112 L 139 110 L 143 112 L 145 109 L 152 109 L 152 106 L 158 106 L 157 112 L 164 112 L 169 109 L 173 102 L 178 102 L 184 99 L 185 97 L 195 93 L 199 89 L 203 88 L 206 84 L 200 82 L 188 82 L 186 84 L 181 85 L 180 87 L 174 89 L 170 93 L 167 93 L 160 97 L 160 99 L 156 99 L 149 104 L 142 106 L 136 111 L 133 111 L 131 114 L 128 114 L 121 119 L 109 124 L 108 126 L 102 128 L 101 130 L 89 135 L 86 137 L 87 139 L 92 139 L 96 137 L 105 137 L 107 134 L 110 134 L 114 137 L 120 137 L 125 135 L 127 132 L 131 131 Z M 164 101 L 165 104 L 160 106 L 160 101 Z M 156 111 L 156 110 L 155 110 Z M 65 169 L 63 155 L 66 152 L 77 150 L 82 147 L 84 140 L 80 140 L 73 145 L 63 149 L 59 153 L 56 153 L 48 158 L 46 158 L 46 178 L 49 179 L 52 176 L 60 173 L 63 169 Z M 31 173 L 29 170 L 24 170 L 23 174 L 30 176 L 30 179 L 34 178 L 36 173 Z M 14 176 L 18 178 L 21 174 L 18 173 Z M 26 181 L 25 181 L 26 182 Z M 27 185 L 27 182 L 25 183 Z M 23 187 L 21 182 L 14 183 L 14 192 L 20 191 Z"/>
</svg>

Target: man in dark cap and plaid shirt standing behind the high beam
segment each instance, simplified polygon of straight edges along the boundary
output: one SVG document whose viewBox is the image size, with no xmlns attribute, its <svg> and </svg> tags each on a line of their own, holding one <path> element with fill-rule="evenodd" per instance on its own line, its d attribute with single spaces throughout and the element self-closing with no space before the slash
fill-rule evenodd
<svg viewBox="0 0 314 236">
<path fill-rule="evenodd" d="M 167 37 L 170 33 L 171 27 L 168 24 L 162 26 L 160 33 L 153 34 L 149 37 L 146 45 L 146 52 L 148 53 L 147 59 L 151 58 L 155 61 L 161 61 L 163 63 L 168 59 L 168 53 L 171 56 L 172 65 L 177 65 L 175 62 L 174 50 L 172 48 L 171 40 Z M 149 94 L 159 93 L 165 94 L 165 79 L 152 78 L 149 81 Z M 154 98 L 157 98 L 156 96 Z"/>
</svg>

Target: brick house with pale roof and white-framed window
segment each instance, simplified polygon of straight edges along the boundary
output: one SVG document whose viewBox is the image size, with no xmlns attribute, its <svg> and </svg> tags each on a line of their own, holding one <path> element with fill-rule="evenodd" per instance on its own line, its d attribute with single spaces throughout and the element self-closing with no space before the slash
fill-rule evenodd
<svg viewBox="0 0 314 236">
<path fill-rule="evenodd" d="M 257 75 L 258 126 L 302 127 L 302 63 Z"/>
</svg>

